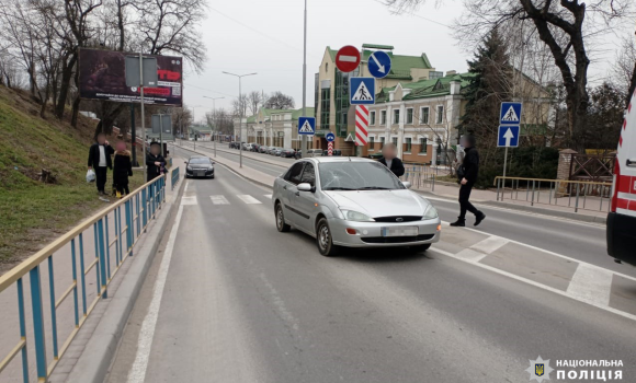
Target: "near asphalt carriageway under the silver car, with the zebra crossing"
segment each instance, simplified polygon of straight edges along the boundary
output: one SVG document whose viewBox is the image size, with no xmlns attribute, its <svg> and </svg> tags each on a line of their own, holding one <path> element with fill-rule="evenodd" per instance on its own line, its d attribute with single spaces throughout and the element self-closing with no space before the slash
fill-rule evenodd
<svg viewBox="0 0 636 383">
<path fill-rule="evenodd" d="M 537 356 L 636 376 L 631 320 L 434 246 L 325 258 L 276 231 L 269 190 L 188 183 L 107 382 L 527 382 Z"/>
</svg>

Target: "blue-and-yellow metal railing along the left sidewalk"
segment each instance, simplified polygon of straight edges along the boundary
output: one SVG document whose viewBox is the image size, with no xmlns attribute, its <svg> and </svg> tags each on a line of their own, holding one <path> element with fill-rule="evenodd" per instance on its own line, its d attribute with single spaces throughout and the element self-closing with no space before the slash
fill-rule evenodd
<svg viewBox="0 0 636 383">
<path fill-rule="evenodd" d="M 0 318 L 5 320 L 8 315 L 15 314 L 18 316 L 18 326 L 14 326 L 15 333 L 20 334 L 20 340 L 0 361 L 0 375 L 11 361 L 21 353 L 22 368 L 19 369 L 18 364 L 13 364 L 15 371 L 9 369 L 4 372 L 14 372 L 13 378 L 18 380 L 22 375 L 25 383 L 30 382 L 29 376 L 32 372 L 35 372 L 37 381 L 47 381 L 100 298 L 107 298 L 112 278 L 121 269 L 126 258 L 133 256 L 135 244 L 145 232 L 149 221 L 156 217 L 157 210 L 161 209 L 164 200 L 166 177 L 161 176 L 148 182 L 133 194 L 73 228 L 0 277 L 0 295 L 2 297 Z M 84 252 L 84 240 L 86 236 L 90 237 L 91 227 L 94 242 L 92 254 L 90 254 L 89 248 Z M 112 251 L 115 253 L 114 263 L 111 258 Z M 60 258 L 56 257 L 55 264 L 58 267 L 59 265 L 66 266 L 66 268 L 61 267 L 57 270 L 59 278 L 56 278 L 54 272 L 54 255 L 70 256 L 70 262 L 69 258 L 63 258 L 63 262 L 59 262 Z M 87 265 L 88 262 L 90 263 Z M 43 264 L 45 263 L 48 272 L 43 272 Z M 93 268 L 95 269 L 94 278 L 89 274 Z M 29 275 L 29 285 L 23 280 L 26 275 Z M 43 291 L 47 285 L 46 279 L 48 292 Z M 63 285 L 66 283 L 65 279 L 72 281 L 70 285 Z M 87 286 L 93 285 L 93 282 L 96 289 L 93 290 L 92 287 L 87 289 Z M 16 301 L 14 298 L 7 301 L 9 295 L 2 293 L 13 287 L 16 290 Z M 26 293 L 25 290 L 27 290 Z M 56 290 L 64 292 L 56 294 Z M 25 297 L 29 297 L 29 292 L 31 307 L 25 305 Z M 47 294 L 48 297 L 46 297 Z M 71 294 L 72 305 L 66 300 Z M 16 310 L 10 303 L 14 303 Z M 33 327 L 27 326 L 27 322 L 31 322 L 27 321 L 29 316 L 32 317 Z M 64 324 L 64 322 L 68 326 L 60 326 L 60 323 Z M 10 324 L 10 322 L 0 323 L 2 330 L 0 336 L 2 345 L 0 346 L 11 347 L 10 335 L 5 334 L 12 330 Z M 46 328 L 50 326 L 50 330 L 46 330 L 45 326 Z M 68 334 L 64 340 L 58 338 L 60 332 L 64 333 L 63 337 Z M 18 338 L 18 334 L 15 335 Z M 0 351 L 3 350 L 0 349 Z M 53 356 L 53 360 L 47 363 L 49 356 Z M 29 363 L 30 359 L 33 358 L 35 365 Z M 5 378 L 0 378 L 0 381 L 13 381 L 11 376 L 4 380 Z"/>
</svg>

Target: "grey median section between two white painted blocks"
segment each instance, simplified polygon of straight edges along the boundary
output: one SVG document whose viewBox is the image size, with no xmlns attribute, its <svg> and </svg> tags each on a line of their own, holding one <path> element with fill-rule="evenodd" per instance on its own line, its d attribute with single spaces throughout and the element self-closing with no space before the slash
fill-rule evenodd
<svg viewBox="0 0 636 383">
<path fill-rule="evenodd" d="M 480 262 L 510 274 L 567 291 L 578 263 L 508 243 Z"/>
</svg>

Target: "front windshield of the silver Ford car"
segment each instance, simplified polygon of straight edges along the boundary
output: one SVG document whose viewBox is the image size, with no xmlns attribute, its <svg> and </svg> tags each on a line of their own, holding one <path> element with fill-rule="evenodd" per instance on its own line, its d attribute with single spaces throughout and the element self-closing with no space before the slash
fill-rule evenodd
<svg viewBox="0 0 636 383">
<path fill-rule="evenodd" d="M 318 165 L 322 190 L 393 190 L 405 187 L 378 162 L 327 162 Z"/>
</svg>

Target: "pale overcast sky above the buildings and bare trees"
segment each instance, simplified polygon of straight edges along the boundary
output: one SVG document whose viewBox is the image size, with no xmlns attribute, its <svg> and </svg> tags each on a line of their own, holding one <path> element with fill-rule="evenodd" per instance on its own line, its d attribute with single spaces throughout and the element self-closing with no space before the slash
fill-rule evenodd
<svg viewBox="0 0 636 383">
<path fill-rule="evenodd" d="M 208 1 L 207 19 L 202 24 L 207 47 L 205 71 L 184 77 L 185 104 L 195 107 L 200 119 L 216 107 L 229 107 L 238 95 L 237 74 L 258 72 L 242 80 L 242 91 L 281 91 L 292 95 L 296 107 L 303 103 L 303 0 Z M 397 55 L 425 53 L 439 71 L 467 70 L 473 56 L 452 36 L 453 21 L 462 14 L 459 1 L 446 1 L 435 8 L 422 7 L 414 14 L 394 15 L 381 0 L 308 0 L 307 30 L 307 106 L 314 105 L 314 74 L 325 47 L 344 45 L 393 45 Z M 611 39 L 607 42 L 614 44 Z M 591 69 L 592 76 L 605 76 L 613 53 Z"/>
</svg>

